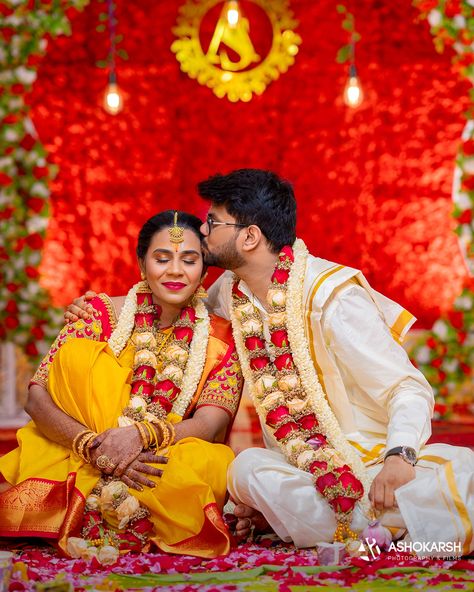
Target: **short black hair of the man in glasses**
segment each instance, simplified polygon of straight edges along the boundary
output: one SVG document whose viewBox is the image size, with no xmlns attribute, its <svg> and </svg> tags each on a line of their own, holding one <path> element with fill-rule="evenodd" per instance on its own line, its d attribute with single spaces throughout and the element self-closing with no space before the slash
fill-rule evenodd
<svg viewBox="0 0 474 592">
<path fill-rule="evenodd" d="M 217 174 L 197 186 L 201 197 L 224 206 L 239 224 L 255 224 L 275 253 L 296 239 L 293 186 L 271 171 L 238 169 Z"/>
</svg>

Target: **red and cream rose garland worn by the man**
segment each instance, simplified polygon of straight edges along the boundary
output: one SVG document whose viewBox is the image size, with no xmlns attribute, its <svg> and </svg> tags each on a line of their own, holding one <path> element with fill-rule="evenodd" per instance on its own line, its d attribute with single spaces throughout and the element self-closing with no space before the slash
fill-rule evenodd
<svg viewBox="0 0 474 592">
<path fill-rule="evenodd" d="M 336 514 L 335 540 L 357 538 L 350 530 L 352 512 L 363 497 L 367 505 L 368 481 L 325 400 L 307 348 L 301 309 L 306 259 L 306 247 L 299 240 L 294 251 L 286 246 L 278 256 L 267 294 L 271 346 L 265 339 L 260 312 L 235 280 L 231 307 L 234 338 L 261 420 L 287 459 L 314 476 L 316 489 Z"/>
</svg>

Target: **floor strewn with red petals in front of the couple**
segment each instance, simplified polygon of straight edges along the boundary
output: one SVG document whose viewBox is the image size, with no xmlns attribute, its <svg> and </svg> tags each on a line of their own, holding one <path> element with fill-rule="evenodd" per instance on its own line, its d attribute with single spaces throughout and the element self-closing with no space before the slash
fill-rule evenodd
<svg viewBox="0 0 474 592">
<path fill-rule="evenodd" d="M 151 553 L 129 555 L 111 567 L 95 560 L 63 559 L 45 547 L 24 547 L 16 550 L 8 590 L 474 590 L 474 560 L 406 560 L 384 555 L 372 562 L 352 559 L 339 566 L 319 566 L 311 550 L 269 545 L 263 539 L 259 545 L 241 545 L 228 557 L 207 561 Z"/>
</svg>

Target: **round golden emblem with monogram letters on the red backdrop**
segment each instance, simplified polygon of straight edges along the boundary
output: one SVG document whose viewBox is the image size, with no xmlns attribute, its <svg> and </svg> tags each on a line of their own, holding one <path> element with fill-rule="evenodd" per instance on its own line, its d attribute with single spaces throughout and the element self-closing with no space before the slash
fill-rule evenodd
<svg viewBox="0 0 474 592">
<path fill-rule="evenodd" d="M 294 63 L 301 38 L 287 0 L 188 0 L 171 50 L 181 70 L 230 101 L 250 101 Z"/>
</svg>

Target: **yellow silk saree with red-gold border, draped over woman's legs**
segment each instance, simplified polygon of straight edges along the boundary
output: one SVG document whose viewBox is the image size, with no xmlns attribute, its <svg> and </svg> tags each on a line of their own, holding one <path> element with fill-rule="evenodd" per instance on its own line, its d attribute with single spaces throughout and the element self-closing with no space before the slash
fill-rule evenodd
<svg viewBox="0 0 474 592">
<path fill-rule="evenodd" d="M 127 346 L 117 359 L 106 343 L 73 339 L 64 344 L 50 368 L 48 391 L 53 401 L 71 417 L 100 433 L 117 426 L 117 419 L 130 397 L 131 367 L 134 348 Z M 36 481 L 62 486 L 53 509 L 49 528 L 56 530 L 64 549 L 71 528 L 77 528 L 82 516 L 83 501 L 95 486 L 99 473 L 70 450 L 45 439 L 33 422 L 19 430 L 19 448 L 0 459 L 0 472 L 12 487 L 0 495 L 0 533 L 15 529 L 15 518 L 3 518 L 5 509 L 16 499 L 19 510 L 19 489 Z M 138 492 L 131 490 L 151 511 L 155 526 L 153 541 L 165 551 L 215 557 L 227 553 L 230 538 L 222 510 L 226 492 L 226 472 L 233 459 L 232 451 L 220 444 L 209 444 L 198 438 L 180 440 L 168 449 L 168 464 L 161 478 L 151 477 L 156 487 Z M 73 474 L 75 474 L 75 484 Z M 67 485 L 67 487 L 66 487 Z M 75 485 L 72 487 L 72 485 Z M 19 489 L 18 489 L 19 488 Z M 65 493 L 67 489 L 67 493 Z M 76 499 L 71 494 L 76 492 Z M 77 493 L 80 492 L 80 496 Z M 6 499 L 8 498 L 9 499 Z M 21 496 L 20 496 L 21 497 Z M 41 496 L 38 494 L 41 505 Z M 78 499 L 81 502 L 78 504 Z M 60 504 L 69 502 L 75 516 L 61 515 Z M 14 504 L 14 505 L 15 505 Z M 36 507 L 36 521 L 38 507 Z M 64 514 L 64 512 L 62 512 Z M 18 516 L 17 516 L 18 518 Z M 50 517 L 51 518 L 51 517 Z M 23 516 L 17 525 L 18 535 L 32 534 L 31 521 Z M 37 536 L 45 530 L 37 525 Z"/>
</svg>

